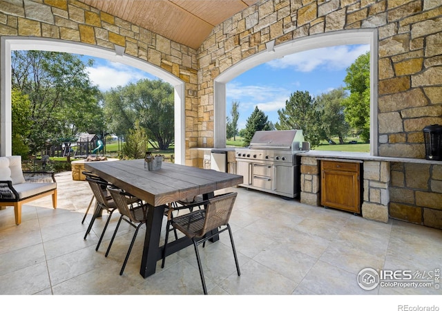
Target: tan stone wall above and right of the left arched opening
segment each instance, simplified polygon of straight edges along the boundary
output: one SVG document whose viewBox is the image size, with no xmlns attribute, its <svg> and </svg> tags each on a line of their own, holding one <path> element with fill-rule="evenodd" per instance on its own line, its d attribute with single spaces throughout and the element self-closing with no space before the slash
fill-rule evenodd
<svg viewBox="0 0 442 311">
<path fill-rule="evenodd" d="M 186 163 L 198 165 L 190 148 L 197 146 L 202 129 L 199 100 L 188 92 L 198 90 L 196 50 L 75 0 L 0 0 L 0 36 L 61 39 L 111 50 L 116 44 L 126 55 L 179 77 L 186 88 Z"/>
</svg>

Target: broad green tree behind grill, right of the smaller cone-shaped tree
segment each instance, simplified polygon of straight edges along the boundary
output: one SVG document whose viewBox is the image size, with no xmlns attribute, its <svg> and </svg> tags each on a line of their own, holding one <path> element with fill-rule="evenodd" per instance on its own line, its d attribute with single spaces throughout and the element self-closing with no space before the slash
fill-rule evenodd
<svg viewBox="0 0 442 311">
<path fill-rule="evenodd" d="M 278 130 L 302 130 L 305 140 L 312 148 L 316 147 L 325 136 L 320 108 L 309 92 L 296 91 L 285 101 L 285 109 L 278 110 L 279 122 L 275 127 Z"/>
</svg>

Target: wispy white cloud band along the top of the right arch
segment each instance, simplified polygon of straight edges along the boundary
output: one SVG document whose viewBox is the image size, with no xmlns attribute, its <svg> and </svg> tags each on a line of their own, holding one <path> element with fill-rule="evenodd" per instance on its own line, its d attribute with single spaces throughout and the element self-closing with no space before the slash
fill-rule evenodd
<svg viewBox="0 0 442 311">
<path fill-rule="evenodd" d="M 282 59 L 274 59 L 267 64 L 274 69 L 293 68 L 302 73 L 318 69 L 343 70 L 367 50 L 369 50 L 369 45 L 317 48 L 287 55 Z"/>
</svg>

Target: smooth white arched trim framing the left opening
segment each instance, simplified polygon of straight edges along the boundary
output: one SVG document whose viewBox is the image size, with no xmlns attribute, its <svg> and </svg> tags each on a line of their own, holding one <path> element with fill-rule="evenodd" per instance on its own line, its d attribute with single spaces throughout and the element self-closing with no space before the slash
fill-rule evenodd
<svg viewBox="0 0 442 311">
<path fill-rule="evenodd" d="M 0 156 L 12 154 L 12 127 L 11 127 L 11 51 L 12 50 L 48 50 L 52 52 L 75 53 L 108 59 L 111 62 L 119 62 L 144 70 L 166 82 L 175 88 L 175 163 L 184 164 L 184 130 L 185 130 L 185 96 L 184 82 L 171 73 L 143 62 L 141 59 L 124 54 L 122 46 L 115 46 L 115 50 L 88 46 L 86 44 L 70 43 L 62 40 L 50 40 L 39 38 L 2 37 L 1 38 L 0 68 L 1 70 L 1 107 L 0 107 Z"/>
</svg>

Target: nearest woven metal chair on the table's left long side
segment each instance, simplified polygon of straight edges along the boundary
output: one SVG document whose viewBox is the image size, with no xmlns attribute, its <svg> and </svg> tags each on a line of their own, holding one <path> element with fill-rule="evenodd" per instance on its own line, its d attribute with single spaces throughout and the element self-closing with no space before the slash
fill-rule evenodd
<svg viewBox="0 0 442 311">
<path fill-rule="evenodd" d="M 137 233 L 140 227 L 142 225 L 146 224 L 147 226 L 147 220 L 148 220 L 148 210 L 151 205 L 148 203 L 140 204 L 140 205 L 131 205 L 131 202 L 133 200 L 136 200 L 134 196 L 131 194 L 128 194 L 126 191 L 122 189 L 118 189 L 115 187 L 109 187 L 108 188 L 109 193 L 111 194 L 111 197 L 113 198 L 113 201 L 115 202 L 115 205 L 117 206 L 117 209 L 119 211 L 119 214 L 121 216 L 119 217 L 117 227 L 115 227 L 115 231 L 113 232 L 113 236 L 111 238 L 111 242 L 108 245 L 108 249 L 106 250 L 106 254 L 104 256 L 108 256 L 109 251 L 111 250 L 113 241 L 115 239 L 115 236 L 117 235 L 117 231 L 119 228 L 119 225 L 121 224 L 122 220 L 126 221 L 129 225 L 135 228 L 135 233 L 133 234 L 131 244 L 129 245 L 129 249 L 126 253 L 126 257 L 124 258 L 124 262 L 122 265 L 122 269 L 119 272 L 119 275 L 122 275 L 124 272 L 124 268 L 126 267 L 126 263 L 128 261 L 129 256 L 131 255 L 133 244 L 135 243 L 135 238 L 137 238 Z M 165 207 L 166 211 L 166 207 Z M 146 227 L 147 229 L 147 227 Z"/>
</svg>

